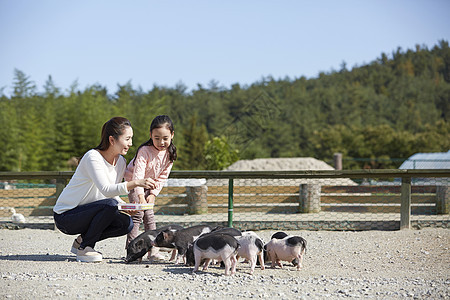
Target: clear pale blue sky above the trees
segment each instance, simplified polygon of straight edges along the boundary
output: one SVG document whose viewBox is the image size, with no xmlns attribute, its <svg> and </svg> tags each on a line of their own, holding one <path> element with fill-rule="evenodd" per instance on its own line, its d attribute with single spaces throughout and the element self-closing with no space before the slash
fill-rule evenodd
<svg viewBox="0 0 450 300">
<path fill-rule="evenodd" d="M 450 40 L 448 0 L 0 0 L 0 88 L 189 89 L 316 77 Z"/>
</svg>

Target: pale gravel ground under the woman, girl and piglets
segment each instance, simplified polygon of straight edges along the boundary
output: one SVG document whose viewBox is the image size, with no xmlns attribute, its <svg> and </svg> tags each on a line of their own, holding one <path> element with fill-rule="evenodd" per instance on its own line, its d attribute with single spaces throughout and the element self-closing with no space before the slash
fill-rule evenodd
<svg viewBox="0 0 450 300">
<path fill-rule="evenodd" d="M 275 231 L 257 232 L 265 242 Z M 101 241 L 101 263 L 78 263 L 74 236 L 0 230 L 0 299 L 450 299 L 450 231 L 289 231 L 308 242 L 304 268 L 192 274 L 168 262 L 125 264 L 125 237 Z"/>
</svg>

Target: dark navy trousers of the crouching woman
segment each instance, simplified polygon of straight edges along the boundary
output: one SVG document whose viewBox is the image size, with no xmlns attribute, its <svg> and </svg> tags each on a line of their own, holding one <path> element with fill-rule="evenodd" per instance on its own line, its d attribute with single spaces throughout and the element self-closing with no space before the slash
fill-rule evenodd
<svg viewBox="0 0 450 300">
<path fill-rule="evenodd" d="M 128 234 L 131 217 L 117 209 L 116 199 L 103 199 L 77 206 L 62 214 L 53 213 L 56 227 L 66 234 L 81 234 L 81 248 L 110 237 Z"/>
</svg>

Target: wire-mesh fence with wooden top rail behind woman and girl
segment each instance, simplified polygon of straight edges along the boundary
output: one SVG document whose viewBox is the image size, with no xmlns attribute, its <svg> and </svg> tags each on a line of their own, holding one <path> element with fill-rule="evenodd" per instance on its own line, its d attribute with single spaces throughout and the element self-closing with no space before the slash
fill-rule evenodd
<svg viewBox="0 0 450 300">
<path fill-rule="evenodd" d="M 52 183 L 49 187 L 39 184 L 38 188 L 21 183 L 17 189 L 5 189 L 4 184 L 0 206 L 14 207 L 26 217 L 51 216 L 58 195 L 72 175 L 0 172 L 0 182 Z M 435 216 L 434 220 L 444 227 L 449 223 L 450 170 L 172 171 L 170 178 L 206 179 L 207 183 L 164 187 L 155 205 L 157 218 L 161 216 L 158 223 L 192 219 L 228 226 L 237 221 L 245 226 L 245 222 L 265 219 L 296 222 L 297 226 L 310 222 L 310 227 L 326 229 L 322 225 L 333 217 L 335 229 L 377 229 L 379 225 L 364 225 L 372 219 L 377 224 L 387 220 L 397 229 L 406 229 L 411 228 L 412 216 L 415 222 Z M 5 214 L 0 211 L 0 217 Z M 171 218 L 174 216 L 179 218 Z M 355 227 L 356 217 L 363 225 Z M 349 220 L 353 220 L 350 227 L 345 225 Z"/>
</svg>

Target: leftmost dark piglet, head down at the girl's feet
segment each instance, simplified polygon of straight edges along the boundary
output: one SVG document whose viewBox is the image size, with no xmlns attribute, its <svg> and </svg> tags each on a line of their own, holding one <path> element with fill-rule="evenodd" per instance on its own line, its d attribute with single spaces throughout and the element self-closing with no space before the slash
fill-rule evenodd
<svg viewBox="0 0 450 300">
<path fill-rule="evenodd" d="M 161 232 L 165 230 L 169 230 L 172 232 L 175 232 L 177 230 L 183 229 L 180 225 L 168 225 L 163 226 L 160 228 L 157 228 L 155 230 L 147 230 L 140 235 L 138 235 L 135 239 L 133 239 L 127 246 L 127 257 L 125 258 L 126 263 L 133 262 L 135 260 L 141 261 L 142 257 L 145 255 L 145 253 L 149 252 L 152 249 L 152 242 L 156 239 L 156 236 Z M 170 246 L 166 248 L 172 249 L 172 259 L 175 257 L 175 247 Z"/>
</svg>

